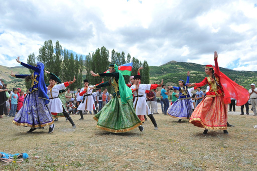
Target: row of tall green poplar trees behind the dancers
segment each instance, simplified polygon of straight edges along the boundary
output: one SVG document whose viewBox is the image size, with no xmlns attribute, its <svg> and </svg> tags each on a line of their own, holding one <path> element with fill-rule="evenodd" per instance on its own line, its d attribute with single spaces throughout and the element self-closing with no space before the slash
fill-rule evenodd
<svg viewBox="0 0 257 171">
<path fill-rule="evenodd" d="M 132 74 L 137 75 L 138 69 L 143 66 L 144 69 L 141 70 L 142 81 L 141 83 L 149 84 L 149 65 L 145 60 L 143 63 L 127 54 L 125 56 L 124 52 L 116 52 L 114 49 L 111 51 L 111 56 L 109 55 L 109 50 L 104 46 L 100 49 L 96 49 L 95 52 L 88 53 L 88 55 L 83 58 L 82 55 L 75 55 L 63 49 L 59 41 L 56 41 L 55 46 L 52 40 L 44 42 L 44 45 L 39 49 L 39 55 L 36 57 L 34 53 L 30 54 L 27 59 L 27 63 L 30 65 L 35 65 L 36 61 L 42 62 L 45 65 L 45 70 L 57 75 L 62 82 L 72 81 L 75 76 L 77 81 L 69 86 L 71 90 L 76 90 L 77 88 L 82 88 L 84 86 L 83 80 L 88 79 L 89 85 L 95 85 L 102 81 L 100 77 L 93 77 L 90 75 L 90 71 L 94 73 L 103 73 L 108 69 L 109 64 L 114 63 L 117 66 L 122 64 L 133 62 Z M 82 72 L 85 70 L 85 74 Z M 31 74 L 34 72 L 30 70 Z M 50 78 L 49 74 L 44 74 L 44 79 L 46 84 Z M 107 81 L 109 78 L 104 78 Z M 130 80 L 130 76 L 124 76 L 127 82 Z M 26 88 L 31 87 L 31 82 L 26 83 Z M 108 87 L 108 91 L 112 92 L 111 87 Z"/>
</svg>

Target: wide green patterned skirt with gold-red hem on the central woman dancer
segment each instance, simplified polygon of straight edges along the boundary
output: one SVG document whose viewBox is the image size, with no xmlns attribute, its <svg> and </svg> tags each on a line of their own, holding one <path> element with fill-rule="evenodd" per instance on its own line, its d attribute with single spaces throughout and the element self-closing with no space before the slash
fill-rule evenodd
<svg viewBox="0 0 257 171">
<path fill-rule="evenodd" d="M 122 104 L 121 99 L 114 97 L 94 116 L 98 128 L 109 132 L 127 132 L 142 125 L 136 115 L 133 101 Z"/>
</svg>

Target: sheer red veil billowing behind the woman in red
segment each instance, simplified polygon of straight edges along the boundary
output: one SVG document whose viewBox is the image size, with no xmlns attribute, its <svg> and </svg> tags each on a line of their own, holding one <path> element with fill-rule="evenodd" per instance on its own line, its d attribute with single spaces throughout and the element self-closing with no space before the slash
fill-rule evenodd
<svg viewBox="0 0 257 171">
<path fill-rule="evenodd" d="M 206 65 L 206 68 L 212 68 L 213 71 L 215 71 L 212 65 Z M 220 83 L 223 87 L 225 95 L 224 104 L 231 103 L 230 97 L 236 99 L 236 106 L 242 106 L 245 103 L 247 103 L 250 97 L 248 90 L 236 84 L 234 81 L 232 81 L 230 78 L 228 78 L 224 73 L 220 71 L 218 77 L 220 78 Z"/>
</svg>

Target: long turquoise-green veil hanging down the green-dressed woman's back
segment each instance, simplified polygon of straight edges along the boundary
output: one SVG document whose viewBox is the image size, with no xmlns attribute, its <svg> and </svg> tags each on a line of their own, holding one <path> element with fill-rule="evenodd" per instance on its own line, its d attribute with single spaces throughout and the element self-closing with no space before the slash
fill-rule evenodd
<svg viewBox="0 0 257 171">
<path fill-rule="evenodd" d="M 119 87 L 119 95 L 120 95 L 121 102 L 122 104 L 127 104 L 127 101 L 133 98 L 132 96 L 133 93 L 131 89 L 126 86 L 124 77 L 118 70 L 118 66 L 116 64 L 114 64 L 114 69 L 115 69 L 115 72 L 119 73 L 118 87 Z"/>
</svg>

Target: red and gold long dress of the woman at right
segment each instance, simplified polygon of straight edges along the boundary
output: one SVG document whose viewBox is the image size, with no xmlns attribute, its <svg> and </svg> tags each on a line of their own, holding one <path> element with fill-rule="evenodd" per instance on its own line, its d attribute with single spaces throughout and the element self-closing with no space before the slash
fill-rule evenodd
<svg viewBox="0 0 257 171">
<path fill-rule="evenodd" d="M 224 104 L 224 90 L 220 82 L 220 74 L 217 58 L 215 59 L 216 82 L 211 81 L 210 77 L 205 77 L 200 83 L 195 83 L 197 87 L 206 84 L 210 86 L 210 90 L 206 93 L 206 97 L 196 106 L 189 122 L 194 126 L 206 129 L 227 129 L 227 104 Z"/>
</svg>

